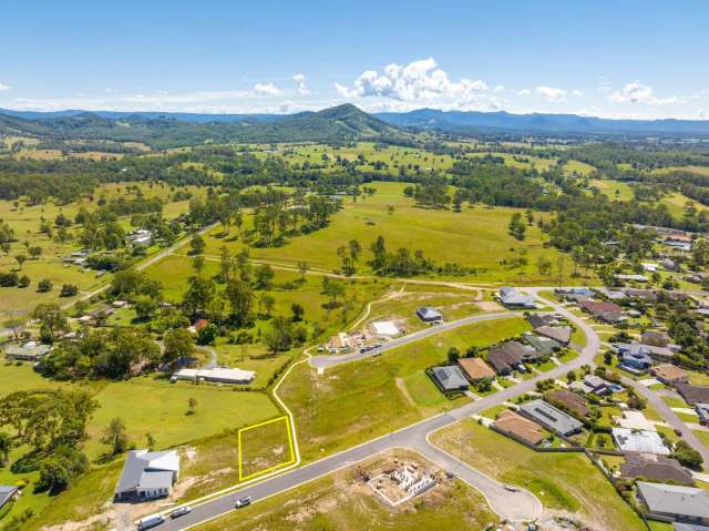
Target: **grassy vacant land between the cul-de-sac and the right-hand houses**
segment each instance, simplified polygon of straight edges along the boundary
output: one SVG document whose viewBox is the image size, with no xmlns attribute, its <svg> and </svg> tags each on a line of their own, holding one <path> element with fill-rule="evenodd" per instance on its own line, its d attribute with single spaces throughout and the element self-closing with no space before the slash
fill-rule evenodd
<svg viewBox="0 0 709 531">
<path fill-rule="evenodd" d="M 435 445 L 504 482 L 533 491 L 545 508 L 594 529 L 640 531 L 640 519 L 582 453 L 537 453 L 473 420 L 436 432 Z"/>
</svg>

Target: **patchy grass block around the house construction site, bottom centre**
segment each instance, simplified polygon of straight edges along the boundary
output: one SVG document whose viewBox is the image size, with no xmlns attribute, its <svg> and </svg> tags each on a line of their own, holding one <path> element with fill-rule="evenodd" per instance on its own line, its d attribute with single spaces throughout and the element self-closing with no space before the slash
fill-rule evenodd
<svg viewBox="0 0 709 531">
<path fill-rule="evenodd" d="M 400 459 L 408 455 L 397 452 Z M 481 494 L 460 481 L 441 483 L 414 500 L 392 509 L 359 477 L 359 471 L 381 468 L 383 457 L 340 470 L 288 492 L 232 512 L 199 529 L 269 531 L 359 531 L 407 529 L 458 531 L 489 529 L 497 518 Z M 390 461 L 387 461 L 390 462 Z"/>
</svg>

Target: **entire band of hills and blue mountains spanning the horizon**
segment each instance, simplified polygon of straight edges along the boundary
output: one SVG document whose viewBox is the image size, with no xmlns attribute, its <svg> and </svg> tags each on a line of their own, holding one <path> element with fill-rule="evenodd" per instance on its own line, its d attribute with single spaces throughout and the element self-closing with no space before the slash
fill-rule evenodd
<svg viewBox="0 0 709 531">
<path fill-rule="evenodd" d="M 439 111 L 368 114 L 351 104 L 296 114 L 165 112 L 30 112 L 0 110 L 0 135 L 48 141 L 143 142 L 156 149 L 204 142 L 408 141 L 417 130 L 453 134 L 507 133 L 709 136 L 709 121 L 608 120 L 576 114 Z"/>
</svg>

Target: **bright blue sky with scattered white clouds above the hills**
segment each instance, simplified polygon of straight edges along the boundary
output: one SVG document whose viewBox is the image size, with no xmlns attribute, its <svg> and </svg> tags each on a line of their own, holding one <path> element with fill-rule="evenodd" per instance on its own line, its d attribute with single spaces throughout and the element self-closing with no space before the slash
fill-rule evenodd
<svg viewBox="0 0 709 531">
<path fill-rule="evenodd" d="M 709 2 L 4 0 L 0 108 L 709 120 Z"/>
</svg>

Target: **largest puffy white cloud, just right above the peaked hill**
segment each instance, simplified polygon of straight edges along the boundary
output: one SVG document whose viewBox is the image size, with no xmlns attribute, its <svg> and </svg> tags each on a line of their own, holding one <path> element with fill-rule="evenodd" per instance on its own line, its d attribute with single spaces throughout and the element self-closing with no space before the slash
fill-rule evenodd
<svg viewBox="0 0 709 531">
<path fill-rule="evenodd" d="M 443 108 L 466 108 L 481 101 L 487 84 L 463 78 L 451 81 L 432 58 L 401 65 L 388 64 L 383 72 L 362 72 L 353 86 L 335 83 L 337 92 L 347 99 L 381 98 L 409 104 L 436 104 Z"/>
</svg>

